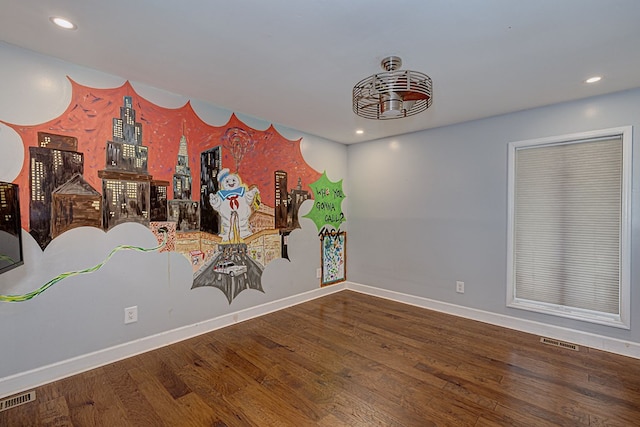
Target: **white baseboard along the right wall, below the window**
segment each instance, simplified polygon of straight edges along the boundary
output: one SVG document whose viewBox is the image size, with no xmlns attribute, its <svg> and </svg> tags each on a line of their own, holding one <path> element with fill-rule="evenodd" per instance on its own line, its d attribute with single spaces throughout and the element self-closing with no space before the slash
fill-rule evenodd
<svg viewBox="0 0 640 427">
<path fill-rule="evenodd" d="M 446 302 L 435 301 L 428 298 L 375 288 L 359 283 L 346 282 L 346 289 L 429 310 L 452 314 L 466 319 L 477 320 L 491 325 L 502 326 L 504 328 L 554 338 L 598 350 L 608 351 L 610 353 L 640 359 L 640 343 L 619 340 L 616 338 L 577 331 L 575 329 L 563 328 L 560 326 L 548 325 L 546 323 L 535 322 L 532 320 L 519 319 L 517 317 L 505 316 L 503 314 L 496 314 Z"/>
</svg>

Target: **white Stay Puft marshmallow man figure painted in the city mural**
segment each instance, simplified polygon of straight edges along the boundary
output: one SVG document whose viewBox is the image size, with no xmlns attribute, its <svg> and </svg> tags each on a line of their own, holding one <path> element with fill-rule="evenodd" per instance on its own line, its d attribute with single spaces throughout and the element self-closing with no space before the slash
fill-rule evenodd
<svg viewBox="0 0 640 427">
<path fill-rule="evenodd" d="M 218 173 L 220 190 L 209 195 L 211 207 L 220 214 L 220 233 L 223 242 L 240 243 L 253 232 L 249 225 L 252 208 L 260 204 L 260 192 L 256 187 L 248 189 L 240 176 L 222 169 Z"/>
</svg>

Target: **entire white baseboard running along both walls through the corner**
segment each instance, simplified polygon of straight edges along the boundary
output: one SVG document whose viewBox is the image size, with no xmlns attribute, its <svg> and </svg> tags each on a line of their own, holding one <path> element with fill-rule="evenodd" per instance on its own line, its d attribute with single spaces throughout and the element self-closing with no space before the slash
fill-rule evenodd
<svg viewBox="0 0 640 427">
<path fill-rule="evenodd" d="M 640 359 L 640 344 L 638 343 L 518 319 L 359 283 L 342 282 L 0 378 L 0 398 L 346 289 Z"/>
</svg>

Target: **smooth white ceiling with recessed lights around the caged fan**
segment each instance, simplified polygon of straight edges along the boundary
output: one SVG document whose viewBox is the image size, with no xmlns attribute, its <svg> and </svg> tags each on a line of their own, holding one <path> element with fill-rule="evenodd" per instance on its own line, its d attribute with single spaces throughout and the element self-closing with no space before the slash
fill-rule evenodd
<svg viewBox="0 0 640 427">
<path fill-rule="evenodd" d="M 346 144 L 640 87 L 640 0 L 0 0 L 0 40 Z M 433 106 L 357 117 L 392 54 Z"/>
</svg>

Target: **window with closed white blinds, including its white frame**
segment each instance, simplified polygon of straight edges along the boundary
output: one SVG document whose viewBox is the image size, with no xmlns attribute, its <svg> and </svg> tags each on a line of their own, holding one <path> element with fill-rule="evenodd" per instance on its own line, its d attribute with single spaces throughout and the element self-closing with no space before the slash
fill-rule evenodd
<svg viewBox="0 0 640 427">
<path fill-rule="evenodd" d="M 507 305 L 629 328 L 631 127 L 509 144 Z"/>
</svg>

